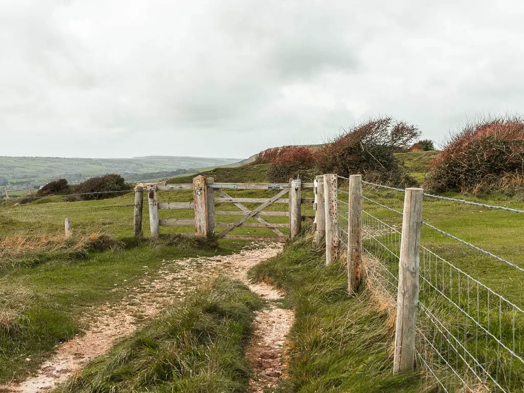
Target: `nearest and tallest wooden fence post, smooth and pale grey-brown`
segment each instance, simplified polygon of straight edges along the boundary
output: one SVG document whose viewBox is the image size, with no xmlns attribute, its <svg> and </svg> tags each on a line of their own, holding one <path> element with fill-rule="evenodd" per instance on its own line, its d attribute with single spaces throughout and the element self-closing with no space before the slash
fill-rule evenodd
<svg viewBox="0 0 524 393">
<path fill-rule="evenodd" d="M 414 369 L 422 196 L 421 188 L 406 189 L 398 272 L 394 373 L 411 372 Z"/>
</svg>

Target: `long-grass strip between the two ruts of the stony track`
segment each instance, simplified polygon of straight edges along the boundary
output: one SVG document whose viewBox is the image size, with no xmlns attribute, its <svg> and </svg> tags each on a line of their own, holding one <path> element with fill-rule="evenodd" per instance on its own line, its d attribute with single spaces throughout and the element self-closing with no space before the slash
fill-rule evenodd
<svg viewBox="0 0 524 393">
<path fill-rule="evenodd" d="M 219 278 L 86 367 L 60 392 L 245 392 L 244 347 L 261 300 Z"/>
</svg>

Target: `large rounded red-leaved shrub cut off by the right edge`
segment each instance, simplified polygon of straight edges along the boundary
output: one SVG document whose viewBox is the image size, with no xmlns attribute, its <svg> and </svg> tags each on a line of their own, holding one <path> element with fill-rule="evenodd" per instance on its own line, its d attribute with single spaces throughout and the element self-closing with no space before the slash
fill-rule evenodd
<svg viewBox="0 0 524 393">
<path fill-rule="evenodd" d="M 488 192 L 521 187 L 523 178 L 524 119 L 496 118 L 456 133 L 431 162 L 424 187 L 434 192 Z"/>
</svg>

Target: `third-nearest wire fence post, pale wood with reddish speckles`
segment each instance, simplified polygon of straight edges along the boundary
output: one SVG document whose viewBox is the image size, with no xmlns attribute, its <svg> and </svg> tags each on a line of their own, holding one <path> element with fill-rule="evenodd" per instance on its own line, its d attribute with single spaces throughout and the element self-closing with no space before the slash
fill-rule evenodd
<svg viewBox="0 0 524 393">
<path fill-rule="evenodd" d="M 336 193 L 336 174 L 324 174 L 324 211 L 326 234 L 326 265 L 331 265 L 338 256 L 339 231 L 338 231 L 338 199 Z"/>
</svg>

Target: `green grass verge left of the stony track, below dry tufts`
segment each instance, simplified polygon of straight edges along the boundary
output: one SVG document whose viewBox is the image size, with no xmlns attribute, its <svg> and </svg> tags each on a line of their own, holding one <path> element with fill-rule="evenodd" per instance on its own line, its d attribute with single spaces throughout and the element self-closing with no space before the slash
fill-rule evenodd
<svg viewBox="0 0 524 393">
<path fill-rule="evenodd" d="M 230 254 L 245 245 L 225 240 L 216 248 L 202 247 L 190 239 L 123 239 L 120 246 L 103 252 L 75 255 L 58 250 L 45 257 L 36 254 L 23 266 L 0 270 L 0 282 L 9 282 L 13 288 L 4 293 L 5 298 L 14 298 L 18 288 L 25 288 L 30 298 L 16 329 L 0 329 L 0 383 L 23 379 L 38 368 L 56 344 L 88 328 L 79 325 L 86 307 L 118 302 L 126 287 L 144 279 L 145 271 L 154 279 L 163 259 L 167 260 L 164 267 L 169 267 L 174 259 Z M 2 302 L 0 307 L 6 308 Z"/>
</svg>

